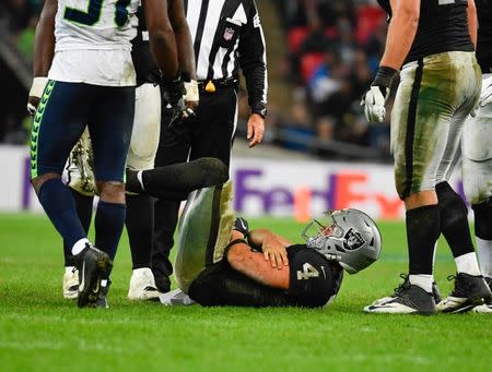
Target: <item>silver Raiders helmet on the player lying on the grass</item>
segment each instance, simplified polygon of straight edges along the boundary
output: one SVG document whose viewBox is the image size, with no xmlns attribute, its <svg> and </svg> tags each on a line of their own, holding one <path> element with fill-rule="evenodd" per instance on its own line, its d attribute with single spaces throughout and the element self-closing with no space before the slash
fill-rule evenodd
<svg viewBox="0 0 492 372">
<path fill-rule="evenodd" d="M 365 213 L 348 208 L 325 212 L 327 221 L 312 219 L 302 231 L 307 248 L 355 274 L 375 262 L 382 238 L 376 223 Z"/>
</svg>

